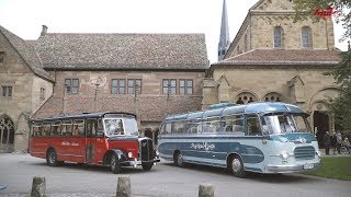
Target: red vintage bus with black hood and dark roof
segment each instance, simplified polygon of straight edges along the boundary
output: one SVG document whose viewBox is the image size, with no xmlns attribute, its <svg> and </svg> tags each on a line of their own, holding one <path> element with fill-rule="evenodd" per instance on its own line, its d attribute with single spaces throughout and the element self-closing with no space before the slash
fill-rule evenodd
<svg viewBox="0 0 351 197">
<path fill-rule="evenodd" d="M 86 113 L 31 120 L 32 157 L 50 166 L 65 161 L 111 166 L 141 165 L 149 171 L 158 155 L 150 138 L 138 137 L 136 116 L 128 113 Z"/>
</svg>

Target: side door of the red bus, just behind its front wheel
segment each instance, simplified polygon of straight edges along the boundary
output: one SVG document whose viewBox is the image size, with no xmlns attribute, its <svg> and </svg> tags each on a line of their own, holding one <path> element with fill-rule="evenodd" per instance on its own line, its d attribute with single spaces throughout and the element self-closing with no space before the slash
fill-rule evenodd
<svg viewBox="0 0 351 197">
<path fill-rule="evenodd" d="M 86 162 L 99 164 L 105 152 L 105 138 L 101 118 L 87 119 Z"/>
</svg>

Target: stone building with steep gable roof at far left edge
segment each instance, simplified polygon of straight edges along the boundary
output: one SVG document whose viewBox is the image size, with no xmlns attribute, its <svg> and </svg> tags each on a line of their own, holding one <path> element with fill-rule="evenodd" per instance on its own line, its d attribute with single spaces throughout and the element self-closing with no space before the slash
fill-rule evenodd
<svg viewBox="0 0 351 197">
<path fill-rule="evenodd" d="M 53 93 L 34 48 L 0 26 L 0 152 L 26 151 L 29 118 Z"/>
</svg>

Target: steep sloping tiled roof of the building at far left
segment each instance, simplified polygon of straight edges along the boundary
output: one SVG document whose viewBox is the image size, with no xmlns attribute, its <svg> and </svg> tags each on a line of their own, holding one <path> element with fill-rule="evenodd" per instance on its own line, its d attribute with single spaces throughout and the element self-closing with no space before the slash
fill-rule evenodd
<svg viewBox="0 0 351 197">
<path fill-rule="evenodd" d="M 0 32 L 4 35 L 4 37 L 10 42 L 13 48 L 19 53 L 19 55 L 23 58 L 30 69 L 37 76 L 54 81 L 54 79 L 43 69 L 43 65 L 38 55 L 36 54 L 33 46 L 29 45 L 25 40 L 20 38 L 19 36 L 12 34 L 4 27 L 0 25 Z"/>
</svg>

